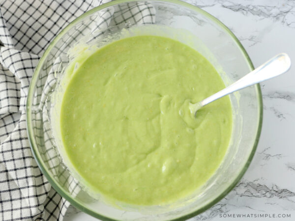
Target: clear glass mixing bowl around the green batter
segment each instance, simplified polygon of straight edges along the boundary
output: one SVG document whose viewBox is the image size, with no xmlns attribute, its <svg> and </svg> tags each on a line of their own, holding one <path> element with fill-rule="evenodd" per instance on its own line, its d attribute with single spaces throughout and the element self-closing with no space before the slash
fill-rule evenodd
<svg viewBox="0 0 295 221">
<path fill-rule="evenodd" d="M 260 86 L 230 95 L 233 132 L 226 156 L 214 175 L 189 197 L 164 206 L 114 207 L 91 197 L 64 164 L 51 125 L 51 108 L 69 50 L 80 42 L 103 45 L 117 33 L 141 27 L 144 34 L 175 38 L 198 50 L 216 68 L 226 85 L 253 65 L 235 35 L 207 12 L 177 0 L 116 0 L 96 7 L 64 28 L 41 57 L 29 87 L 27 127 L 32 152 L 53 188 L 78 209 L 101 220 L 184 220 L 207 210 L 240 180 L 254 155 L 262 125 Z M 146 28 L 152 27 L 152 28 Z M 156 28 L 155 28 L 156 27 Z M 140 34 L 133 31 L 133 35 Z M 79 50 L 77 51 L 79 53 Z"/>
</svg>

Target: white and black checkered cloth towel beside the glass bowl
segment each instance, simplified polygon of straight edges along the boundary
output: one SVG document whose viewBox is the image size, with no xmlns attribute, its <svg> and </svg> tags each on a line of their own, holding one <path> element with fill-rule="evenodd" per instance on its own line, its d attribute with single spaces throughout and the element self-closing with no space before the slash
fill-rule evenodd
<svg viewBox="0 0 295 221">
<path fill-rule="evenodd" d="M 65 215 L 69 202 L 51 188 L 30 150 L 25 111 L 29 83 L 40 56 L 59 31 L 108 1 L 0 0 L 1 221 L 61 221 Z M 154 20 L 150 7 L 135 9 L 123 12 L 121 22 Z M 118 16 L 113 17 L 108 24 L 112 19 L 118 23 Z"/>
</svg>

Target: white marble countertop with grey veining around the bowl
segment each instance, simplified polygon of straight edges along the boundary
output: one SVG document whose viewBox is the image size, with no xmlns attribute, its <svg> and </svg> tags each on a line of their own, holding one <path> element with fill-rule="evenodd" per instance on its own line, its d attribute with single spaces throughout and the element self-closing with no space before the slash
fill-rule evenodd
<svg viewBox="0 0 295 221">
<path fill-rule="evenodd" d="M 294 63 L 288 73 L 261 84 L 263 128 L 245 175 L 224 199 L 191 220 L 295 220 L 295 0 L 186 1 L 230 28 L 255 67 L 280 52 Z M 248 218 L 233 218 L 238 214 Z M 278 218 L 284 214 L 291 218 Z M 96 219 L 70 207 L 64 221 L 79 220 Z"/>
</svg>

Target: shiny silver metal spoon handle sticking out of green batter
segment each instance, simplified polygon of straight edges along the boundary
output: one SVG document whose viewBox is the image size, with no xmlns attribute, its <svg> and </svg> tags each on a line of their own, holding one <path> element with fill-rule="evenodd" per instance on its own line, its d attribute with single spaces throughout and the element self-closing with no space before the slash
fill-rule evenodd
<svg viewBox="0 0 295 221">
<path fill-rule="evenodd" d="M 196 104 L 189 104 L 189 110 L 191 114 L 194 113 L 196 115 L 197 111 L 204 107 L 205 105 L 215 101 L 223 96 L 231 94 L 237 90 L 242 88 L 251 86 L 255 83 L 260 83 L 265 80 L 277 77 L 286 71 L 289 70 L 291 66 L 290 57 L 286 53 L 281 53 L 270 60 L 266 61 L 264 64 L 256 68 L 255 70 L 251 71 L 249 74 L 245 75 L 235 83 L 229 85 L 228 87 L 224 88 L 223 90 L 211 95 L 210 97 L 200 101 Z"/>
</svg>

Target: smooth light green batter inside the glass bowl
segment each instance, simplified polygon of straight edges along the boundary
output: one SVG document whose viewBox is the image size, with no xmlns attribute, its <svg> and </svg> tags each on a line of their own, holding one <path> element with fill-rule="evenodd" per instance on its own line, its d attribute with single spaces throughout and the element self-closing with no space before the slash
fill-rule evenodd
<svg viewBox="0 0 295 221">
<path fill-rule="evenodd" d="M 60 127 L 76 170 L 95 191 L 154 205 L 193 193 L 232 133 L 230 99 L 191 117 L 188 102 L 224 88 L 213 66 L 177 41 L 137 36 L 91 55 L 65 90 Z"/>
</svg>

